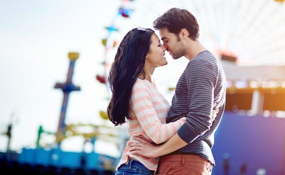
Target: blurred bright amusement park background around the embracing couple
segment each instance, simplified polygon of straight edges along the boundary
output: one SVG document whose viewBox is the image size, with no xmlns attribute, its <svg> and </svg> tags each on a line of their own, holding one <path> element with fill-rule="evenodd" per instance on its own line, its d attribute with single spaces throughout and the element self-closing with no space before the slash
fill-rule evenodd
<svg viewBox="0 0 285 175">
<path fill-rule="evenodd" d="M 117 45 L 131 28 L 152 28 L 180 7 L 196 16 L 199 39 L 227 79 L 212 174 L 285 174 L 283 1 L 0 0 L 0 166 L 113 174 L 128 139 L 105 113 Z M 171 102 L 188 60 L 166 59 L 154 76 Z"/>
</svg>

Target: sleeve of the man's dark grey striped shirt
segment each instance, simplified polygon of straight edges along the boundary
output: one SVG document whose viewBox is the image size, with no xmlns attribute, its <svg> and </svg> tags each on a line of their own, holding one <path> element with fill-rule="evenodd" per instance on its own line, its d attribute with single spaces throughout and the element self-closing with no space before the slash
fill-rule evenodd
<svg viewBox="0 0 285 175">
<path fill-rule="evenodd" d="M 189 110 L 186 122 L 179 128 L 177 134 L 185 142 L 190 143 L 210 129 L 217 76 L 212 64 L 204 60 L 193 60 L 187 65 L 185 80 Z"/>
</svg>

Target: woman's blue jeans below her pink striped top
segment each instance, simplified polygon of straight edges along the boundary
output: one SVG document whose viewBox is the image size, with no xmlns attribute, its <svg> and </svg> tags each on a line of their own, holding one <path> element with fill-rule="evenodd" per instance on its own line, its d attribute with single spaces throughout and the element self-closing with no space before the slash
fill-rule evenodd
<svg viewBox="0 0 285 175">
<path fill-rule="evenodd" d="M 129 159 L 127 164 L 121 164 L 118 167 L 115 175 L 133 175 L 133 174 L 149 175 L 153 173 L 154 170 L 149 170 L 139 161 L 134 159 Z"/>
</svg>

